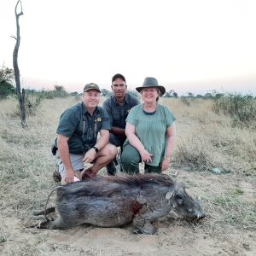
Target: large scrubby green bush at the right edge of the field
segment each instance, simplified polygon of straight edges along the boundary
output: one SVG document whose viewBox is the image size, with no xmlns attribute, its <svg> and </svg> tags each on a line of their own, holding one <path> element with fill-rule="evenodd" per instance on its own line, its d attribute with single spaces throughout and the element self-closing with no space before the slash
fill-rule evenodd
<svg viewBox="0 0 256 256">
<path fill-rule="evenodd" d="M 215 113 L 230 115 L 236 122 L 248 125 L 256 121 L 256 101 L 253 96 L 241 96 L 239 93 L 226 96 L 216 94 L 213 97 Z"/>
</svg>

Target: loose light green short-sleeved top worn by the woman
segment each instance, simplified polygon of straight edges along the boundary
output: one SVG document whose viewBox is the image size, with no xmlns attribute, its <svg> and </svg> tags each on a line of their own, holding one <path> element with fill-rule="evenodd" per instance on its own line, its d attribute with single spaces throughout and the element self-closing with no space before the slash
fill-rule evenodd
<svg viewBox="0 0 256 256">
<path fill-rule="evenodd" d="M 175 117 L 166 106 L 158 104 L 154 114 L 143 112 L 143 104 L 131 108 L 126 122 L 135 126 L 135 134 L 151 154 L 149 166 L 159 166 L 166 154 L 166 129 L 172 125 Z"/>
</svg>

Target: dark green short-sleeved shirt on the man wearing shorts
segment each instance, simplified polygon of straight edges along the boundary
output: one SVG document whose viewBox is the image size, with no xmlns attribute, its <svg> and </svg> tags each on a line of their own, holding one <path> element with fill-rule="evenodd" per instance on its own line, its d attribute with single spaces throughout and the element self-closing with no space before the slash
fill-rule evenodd
<svg viewBox="0 0 256 256">
<path fill-rule="evenodd" d="M 83 154 L 96 144 L 99 131 L 110 128 L 108 113 L 104 108 L 96 107 L 91 116 L 84 103 L 80 102 L 61 113 L 57 133 L 69 137 L 70 153 Z"/>
</svg>

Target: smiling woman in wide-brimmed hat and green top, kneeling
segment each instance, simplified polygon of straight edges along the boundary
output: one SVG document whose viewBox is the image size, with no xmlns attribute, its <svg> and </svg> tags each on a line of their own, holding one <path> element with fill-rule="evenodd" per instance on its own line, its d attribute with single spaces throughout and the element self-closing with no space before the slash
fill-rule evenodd
<svg viewBox="0 0 256 256">
<path fill-rule="evenodd" d="M 168 108 L 158 103 L 166 89 L 157 79 L 146 78 L 143 86 L 136 90 L 142 94 L 144 103 L 131 108 L 126 119 L 122 167 L 124 172 L 139 173 L 139 163 L 143 161 L 145 172 L 160 173 L 171 163 L 175 118 Z"/>
</svg>

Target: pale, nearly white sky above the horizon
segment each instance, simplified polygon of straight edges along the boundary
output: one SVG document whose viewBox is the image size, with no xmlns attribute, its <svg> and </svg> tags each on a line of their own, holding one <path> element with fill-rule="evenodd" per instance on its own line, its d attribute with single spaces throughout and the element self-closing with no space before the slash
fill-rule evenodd
<svg viewBox="0 0 256 256">
<path fill-rule="evenodd" d="M 12 66 L 16 0 L 0 0 L 0 65 Z M 166 90 L 256 96 L 255 0 L 23 0 L 20 80 L 24 88 L 130 90 L 148 77 Z M 20 9 L 18 9 L 20 12 Z"/>
</svg>

